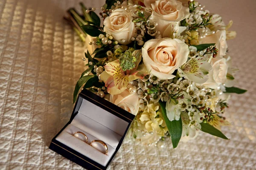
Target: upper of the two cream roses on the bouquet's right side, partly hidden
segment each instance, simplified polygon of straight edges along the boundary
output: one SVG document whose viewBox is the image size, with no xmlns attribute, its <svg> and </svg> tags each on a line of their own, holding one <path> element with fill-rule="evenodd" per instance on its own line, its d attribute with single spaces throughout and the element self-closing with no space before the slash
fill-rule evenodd
<svg viewBox="0 0 256 170">
<path fill-rule="evenodd" d="M 215 34 L 207 35 L 205 38 L 199 39 L 199 44 L 215 43 L 216 48 L 218 48 L 217 57 L 213 58 L 212 61 L 216 62 L 222 59 L 227 52 L 227 41 L 226 41 L 226 31 L 216 31 Z"/>
</svg>

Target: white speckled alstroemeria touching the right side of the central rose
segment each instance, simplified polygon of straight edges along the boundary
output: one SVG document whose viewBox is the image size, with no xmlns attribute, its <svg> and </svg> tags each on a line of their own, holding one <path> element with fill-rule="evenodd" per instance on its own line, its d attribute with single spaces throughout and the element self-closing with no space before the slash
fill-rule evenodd
<svg viewBox="0 0 256 170">
<path fill-rule="evenodd" d="M 212 66 L 203 57 L 191 58 L 183 64 L 178 71 L 192 82 L 202 84 L 207 81 Z"/>
</svg>

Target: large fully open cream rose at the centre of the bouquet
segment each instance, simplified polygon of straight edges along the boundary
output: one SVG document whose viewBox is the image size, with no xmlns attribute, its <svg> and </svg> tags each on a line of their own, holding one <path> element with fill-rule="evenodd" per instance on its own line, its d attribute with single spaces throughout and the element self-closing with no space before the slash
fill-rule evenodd
<svg viewBox="0 0 256 170">
<path fill-rule="evenodd" d="M 151 74 L 160 79 L 172 79 L 172 73 L 183 65 L 189 55 L 189 47 L 178 39 L 152 39 L 142 48 L 143 62 Z"/>
</svg>

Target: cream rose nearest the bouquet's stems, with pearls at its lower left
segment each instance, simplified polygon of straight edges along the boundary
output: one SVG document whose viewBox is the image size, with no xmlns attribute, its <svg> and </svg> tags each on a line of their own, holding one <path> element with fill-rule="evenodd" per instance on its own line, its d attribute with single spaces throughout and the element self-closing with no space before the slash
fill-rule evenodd
<svg viewBox="0 0 256 170">
<path fill-rule="evenodd" d="M 104 20 L 104 31 L 110 33 L 113 40 L 120 44 L 129 44 L 131 37 L 136 35 L 136 29 L 132 22 L 131 12 L 124 9 L 114 10 L 109 17 Z"/>
</svg>

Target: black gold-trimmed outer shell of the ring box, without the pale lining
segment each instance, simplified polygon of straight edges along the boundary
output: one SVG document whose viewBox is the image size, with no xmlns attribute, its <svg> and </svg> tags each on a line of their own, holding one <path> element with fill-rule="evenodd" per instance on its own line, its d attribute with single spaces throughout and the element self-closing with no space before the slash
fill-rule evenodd
<svg viewBox="0 0 256 170">
<path fill-rule="evenodd" d="M 83 99 L 86 99 L 87 101 L 96 105 L 96 107 L 100 107 L 100 108 L 108 111 L 109 113 L 112 113 L 113 115 L 119 117 L 120 119 L 125 120 L 125 122 L 128 122 L 128 126 L 125 130 L 125 133 L 122 136 L 122 138 L 120 139 L 119 144 L 116 147 L 116 151 L 113 153 L 113 156 L 108 161 L 108 164 L 106 166 L 102 166 L 101 164 L 97 163 L 96 161 L 91 160 L 87 156 L 82 155 L 81 153 L 77 152 L 76 150 L 73 150 L 70 147 L 68 147 L 67 145 L 62 144 L 61 142 L 58 142 L 56 140 L 56 137 L 67 127 L 67 125 L 69 125 L 72 122 L 72 120 L 78 113 Z M 113 160 L 114 156 L 116 155 L 117 151 L 119 150 L 134 117 L 135 117 L 135 115 L 129 113 L 128 111 L 125 111 L 122 108 L 119 108 L 118 106 L 114 105 L 113 103 L 108 102 L 107 100 L 92 93 L 91 91 L 84 89 L 83 91 L 81 91 L 81 93 L 79 94 L 79 96 L 76 100 L 76 104 L 73 109 L 73 113 L 70 117 L 70 121 L 61 129 L 61 131 L 56 136 L 54 136 L 54 138 L 52 139 L 52 142 L 49 146 L 49 149 L 55 151 L 56 153 L 64 156 L 65 158 L 75 162 L 76 164 L 79 164 L 81 167 L 84 167 L 88 170 L 106 170 L 108 168 L 109 164 L 111 163 L 111 161 Z"/>
</svg>

